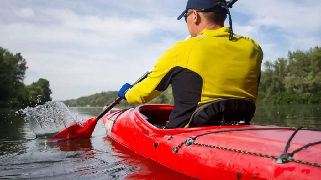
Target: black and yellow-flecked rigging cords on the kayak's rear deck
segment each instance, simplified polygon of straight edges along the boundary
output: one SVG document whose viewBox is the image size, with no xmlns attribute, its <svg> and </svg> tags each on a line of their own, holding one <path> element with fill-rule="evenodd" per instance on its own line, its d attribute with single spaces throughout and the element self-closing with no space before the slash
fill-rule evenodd
<svg viewBox="0 0 321 180">
<path fill-rule="evenodd" d="M 247 128 L 247 129 L 231 129 L 231 130 L 219 130 L 219 131 L 212 131 L 212 132 L 208 132 L 208 133 L 204 133 L 204 134 L 200 134 L 200 135 L 196 135 L 194 137 L 189 137 L 187 138 L 185 141 L 183 141 L 182 143 L 180 143 L 178 145 L 178 148 L 181 148 L 181 146 L 183 144 L 185 144 L 186 146 L 190 146 L 190 145 L 199 145 L 199 146 L 205 146 L 205 147 L 211 147 L 211 148 L 215 148 L 215 149 L 221 149 L 221 150 L 227 150 L 227 151 L 233 151 L 233 152 L 240 152 L 240 153 L 244 153 L 244 154 L 251 154 L 251 155 L 256 155 L 256 156 L 261 156 L 261 157 L 267 157 L 267 158 L 272 158 L 274 160 L 276 160 L 276 163 L 278 164 L 284 164 L 287 162 L 296 162 L 296 163 L 301 163 L 301 164 L 306 164 L 306 165 L 310 165 L 310 166 L 315 166 L 315 167 L 319 167 L 321 168 L 321 164 L 317 164 L 317 163 L 312 163 L 312 162 L 307 162 L 307 161 L 302 161 L 302 160 L 295 160 L 292 158 L 292 156 L 296 153 L 299 152 L 303 149 L 308 148 L 311 145 L 315 145 L 315 144 L 321 144 L 321 141 L 318 142 L 313 142 L 313 143 L 308 143 L 292 152 L 287 152 L 289 147 L 290 147 L 290 142 L 293 139 L 294 135 L 301 129 L 303 129 L 304 127 L 298 127 L 298 128 L 292 128 L 292 127 L 272 127 L 272 128 Z M 271 155 L 267 155 L 267 154 L 261 154 L 261 153 L 256 153 L 256 152 L 249 152 L 249 151 L 242 151 L 242 150 L 237 150 L 237 149 L 231 149 L 231 148 L 225 148 L 225 147 L 220 147 L 220 146 L 214 146 L 214 145 L 208 145 L 208 144 L 202 144 L 202 143 L 195 143 L 195 140 L 197 137 L 200 136 L 204 136 L 204 135 L 209 135 L 212 133 L 220 133 L 220 132 L 232 132 L 232 131 L 246 131 L 246 130 L 272 130 L 272 129 L 279 129 L 279 130 L 294 130 L 294 132 L 292 133 L 292 135 L 290 136 L 289 140 L 286 143 L 286 146 L 284 148 L 284 153 L 278 156 L 271 156 Z M 308 129 L 308 128 L 304 128 L 303 130 L 310 130 L 310 131 L 321 131 L 319 129 Z M 175 153 L 178 153 L 178 148 L 177 147 L 173 147 L 173 151 Z"/>
</svg>

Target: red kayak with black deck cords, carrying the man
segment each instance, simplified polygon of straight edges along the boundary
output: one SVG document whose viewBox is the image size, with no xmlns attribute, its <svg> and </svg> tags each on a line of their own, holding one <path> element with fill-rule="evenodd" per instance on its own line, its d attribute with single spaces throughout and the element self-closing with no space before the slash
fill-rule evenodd
<svg viewBox="0 0 321 180">
<path fill-rule="evenodd" d="M 198 179 L 320 179 L 321 131 L 232 125 L 160 129 L 173 105 L 113 109 L 102 121 L 118 143 Z"/>
</svg>

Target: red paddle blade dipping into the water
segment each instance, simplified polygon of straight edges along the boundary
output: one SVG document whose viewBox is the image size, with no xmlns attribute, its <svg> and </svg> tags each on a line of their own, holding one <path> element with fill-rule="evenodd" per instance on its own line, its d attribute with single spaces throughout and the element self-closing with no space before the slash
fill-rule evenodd
<svg viewBox="0 0 321 180">
<path fill-rule="evenodd" d="M 97 117 L 94 117 L 88 119 L 82 124 L 73 124 L 60 131 L 56 135 L 52 136 L 51 138 L 58 138 L 59 141 L 65 141 L 69 139 L 88 139 L 94 131 L 97 122 Z"/>
</svg>

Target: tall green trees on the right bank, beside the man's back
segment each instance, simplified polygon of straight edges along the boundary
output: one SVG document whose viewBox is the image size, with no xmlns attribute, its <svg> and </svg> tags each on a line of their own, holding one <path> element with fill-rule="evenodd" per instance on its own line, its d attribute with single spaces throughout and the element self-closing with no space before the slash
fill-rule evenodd
<svg viewBox="0 0 321 180">
<path fill-rule="evenodd" d="M 288 59 L 265 62 L 258 101 L 273 104 L 321 102 L 321 48 L 288 53 Z"/>
</svg>

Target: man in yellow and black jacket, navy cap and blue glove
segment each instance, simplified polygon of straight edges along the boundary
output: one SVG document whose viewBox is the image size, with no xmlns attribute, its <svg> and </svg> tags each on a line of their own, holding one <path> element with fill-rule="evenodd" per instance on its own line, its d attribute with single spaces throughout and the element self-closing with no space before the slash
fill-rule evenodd
<svg viewBox="0 0 321 180">
<path fill-rule="evenodd" d="M 254 40 L 224 27 L 227 11 L 225 0 L 188 0 L 178 20 L 184 16 L 191 38 L 165 51 L 147 78 L 119 96 L 144 104 L 171 84 L 174 109 L 164 129 L 187 127 L 199 106 L 218 99 L 256 102 L 263 52 Z"/>
</svg>

